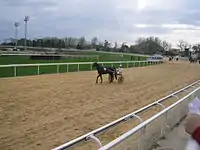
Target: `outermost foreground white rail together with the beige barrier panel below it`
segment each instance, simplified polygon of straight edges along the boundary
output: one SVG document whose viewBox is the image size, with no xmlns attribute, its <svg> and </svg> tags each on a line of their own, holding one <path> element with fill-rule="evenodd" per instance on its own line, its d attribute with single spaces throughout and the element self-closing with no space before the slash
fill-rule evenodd
<svg viewBox="0 0 200 150">
<path fill-rule="evenodd" d="M 188 103 L 199 95 L 200 87 L 99 150 L 151 149 L 166 130 L 174 127 L 186 116 Z M 138 132 L 140 136 L 136 139 L 134 135 Z"/>
</svg>

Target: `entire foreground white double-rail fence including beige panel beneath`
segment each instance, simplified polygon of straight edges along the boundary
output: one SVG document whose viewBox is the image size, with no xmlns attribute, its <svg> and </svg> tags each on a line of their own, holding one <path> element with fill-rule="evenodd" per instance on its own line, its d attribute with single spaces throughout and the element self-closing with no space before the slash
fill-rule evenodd
<svg viewBox="0 0 200 150">
<path fill-rule="evenodd" d="M 192 88 L 192 92 L 190 92 L 187 96 L 183 98 L 179 98 L 177 95 L 182 92 L 188 92 L 189 89 Z M 118 120 L 115 120 L 105 126 L 102 126 L 92 132 L 89 132 L 81 137 L 78 137 L 72 141 L 69 141 L 63 145 L 60 145 L 53 150 L 66 150 L 76 144 L 94 140 L 96 144 L 99 146 L 99 150 L 147 150 L 150 149 L 157 140 L 162 137 L 165 132 L 172 127 L 174 127 L 180 120 L 186 115 L 188 109 L 188 103 L 194 99 L 196 96 L 200 95 L 200 80 L 196 81 L 172 94 L 167 95 L 135 112 L 132 112 L 124 117 L 121 117 Z M 162 102 L 166 101 L 169 98 L 176 98 L 178 101 L 169 107 L 165 107 Z M 148 110 L 154 106 L 159 106 L 163 110 L 153 117 L 149 118 L 146 121 L 143 121 L 142 118 L 138 115 L 145 110 Z M 141 124 L 134 127 L 130 131 L 126 132 L 122 136 L 118 137 L 114 141 L 111 141 L 107 145 L 101 143 L 101 141 L 97 138 L 97 135 L 105 132 L 107 129 L 118 125 L 121 122 L 125 122 L 129 119 L 137 118 Z M 136 135 L 137 134 L 137 135 Z M 138 136 L 139 134 L 139 136 Z"/>
</svg>

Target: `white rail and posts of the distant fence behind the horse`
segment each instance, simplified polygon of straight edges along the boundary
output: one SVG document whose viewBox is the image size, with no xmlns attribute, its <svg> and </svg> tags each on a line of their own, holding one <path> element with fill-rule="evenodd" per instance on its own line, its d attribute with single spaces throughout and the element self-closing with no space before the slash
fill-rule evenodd
<svg viewBox="0 0 200 150">
<path fill-rule="evenodd" d="M 114 64 L 126 64 L 126 67 L 128 68 L 130 64 L 136 64 L 138 63 L 139 66 L 141 63 L 145 63 L 145 66 L 148 64 L 154 64 L 154 63 L 162 63 L 163 61 L 160 60 L 152 60 L 152 61 L 108 61 L 108 62 L 98 62 L 100 64 L 111 64 L 112 66 Z M 16 77 L 17 76 L 17 69 L 19 67 L 37 67 L 37 74 L 40 75 L 41 74 L 41 66 L 57 66 L 55 73 L 60 73 L 60 66 L 61 65 L 66 65 L 66 71 L 65 72 L 69 72 L 70 69 L 70 65 L 77 65 L 77 71 L 80 71 L 80 65 L 90 65 L 90 67 L 88 67 L 88 70 L 92 70 L 92 64 L 94 62 L 70 62 L 70 63 L 40 63 L 40 64 L 11 64 L 11 65 L 0 65 L 0 68 L 10 68 L 13 67 L 13 76 Z"/>
</svg>

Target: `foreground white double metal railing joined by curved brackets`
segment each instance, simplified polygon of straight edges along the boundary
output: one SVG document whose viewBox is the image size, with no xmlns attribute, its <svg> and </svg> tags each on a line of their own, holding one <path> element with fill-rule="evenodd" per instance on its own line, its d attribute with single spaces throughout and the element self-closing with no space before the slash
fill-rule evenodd
<svg viewBox="0 0 200 150">
<path fill-rule="evenodd" d="M 58 146 L 58 147 L 54 148 L 53 150 L 65 150 L 67 148 L 70 148 L 70 147 L 74 146 L 75 144 L 77 144 L 79 142 L 87 141 L 87 140 L 91 140 L 91 139 L 94 140 L 97 143 L 97 145 L 100 148 L 99 150 L 108 150 L 108 149 L 111 149 L 114 146 L 118 145 L 119 143 L 122 143 L 129 136 L 133 135 L 135 132 L 137 132 L 137 131 L 139 131 L 141 129 L 142 129 L 141 135 L 144 137 L 144 129 L 151 121 L 155 120 L 156 118 L 158 118 L 160 115 L 163 115 L 164 113 L 165 113 L 165 117 L 170 117 L 170 115 L 168 115 L 167 112 L 171 108 L 175 107 L 177 104 L 183 102 L 188 97 L 188 95 L 186 97 L 182 98 L 181 100 L 179 100 L 178 102 L 176 102 L 175 104 L 171 105 L 168 108 L 165 108 L 165 106 L 163 104 L 161 104 L 161 102 L 163 102 L 163 101 L 165 101 L 165 100 L 167 100 L 169 98 L 172 98 L 172 97 L 177 98 L 177 100 L 178 100 L 179 97 L 177 96 L 177 94 L 179 94 L 181 92 L 187 92 L 187 89 L 194 88 L 195 85 L 197 85 L 197 84 L 198 85 L 200 84 L 200 80 L 196 81 L 196 82 L 194 82 L 194 83 L 192 83 L 192 84 L 190 84 L 190 85 L 188 85 L 188 86 L 186 86 L 186 87 L 184 87 L 184 88 L 182 88 L 182 89 L 180 89 L 180 90 L 178 90 L 178 91 L 176 91 L 176 92 L 174 92 L 172 94 L 169 94 L 169 95 L 167 95 L 167 96 L 165 96 L 165 97 L 163 97 L 163 98 L 161 98 L 161 99 L 159 99 L 159 100 L 157 100 L 157 101 L 155 101 L 155 102 L 153 102 L 153 103 L 151 103 L 151 104 L 149 104 L 149 105 L 147 105 L 147 106 L 145 106 L 145 107 L 143 107 L 143 108 L 141 108 L 141 109 L 139 109 L 137 111 L 134 111 L 134 112 L 132 112 L 132 113 L 126 115 L 126 116 L 123 116 L 123 117 L 121 117 L 121 118 L 119 118 L 119 119 L 117 119 L 117 120 L 115 120 L 115 121 L 113 121 L 113 122 L 111 122 L 111 123 L 109 123 L 109 124 L 107 124 L 105 126 L 102 126 L 102 127 L 98 128 L 98 129 L 96 129 L 96 130 L 94 130 L 92 132 L 89 132 L 89 133 L 87 133 L 87 134 L 85 134 L 83 136 L 80 136 L 80 137 L 78 137 L 78 138 L 76 138 L 76 139 L 74 139 L 72 141 L 69 141 L 69 142 L 67 142 L 67 143 L 65 143 L 65 144 L 63 144 L 61 146 Z M 192 95 L 195 92 L 199 92 L 199 90 L 200 90 L 200 88 L 197 88 L 195 91 L 190 93 L 189 96 Z M 156 114 L 152 118 L 146 120 L 146 121 L 143 121 L 142 118 L 140 116 L 138 116 L 139 113 L 144 112 L 145 110 L 147 110 L 147 109 L 149 109 L 149 108 L 151 108 L 153 106 L 156 106 L 156 105 L 160 106 L 164 110 L 161 111 L 160 113 Z M 178 120 L 180 120 L 180 118 L 181 118 L 180 116 L 183 115 L 183 114 L 184 113 L 179 114 Z M 127 121 L 127 120 L 129 120 L 131 118 L 137 118 L 140 121 L 141 124 L 139 126 L 133 128 L 131 131 L 125 133 L 121 137 L 117 138 L 116 140 L 112 141 L 111 143 L 109 143 L 109 144 L 105 145 L 104 147 L 102 147 L 103 144 L 96 137 L 96 135 L 106 131 L 107 129 L 109 129 L 109 128 L 113 127 L 113 126 L 116 126 L 117 124 L 119 124 L 121 122 L 125 122 L 125 121 Z M 167 120 L 165 120 L 165 121 L 167 121 Z M 165 123 L 167 124 L 167 122 L 165 122 Z M 163 129 L 162 129 L 161 132 L 163 134 Z M 142 148 L 141 148 L 142 141 L 144 141 L 144 140 L 140 140 L 140 142 L 139 142 L 139 146 L 138 146 L 139 150 L 142 150 Z M 129 145 L 127 145 L 127 146 L 129 146 Z M 119 148 L 117 150 L 120 150 L 120 149 L 123 149 L 123 148 L 121 147 L 121 148 Z M 125 147 L 124 147 L 124 149 L 125 149 Z"/>
</svg>

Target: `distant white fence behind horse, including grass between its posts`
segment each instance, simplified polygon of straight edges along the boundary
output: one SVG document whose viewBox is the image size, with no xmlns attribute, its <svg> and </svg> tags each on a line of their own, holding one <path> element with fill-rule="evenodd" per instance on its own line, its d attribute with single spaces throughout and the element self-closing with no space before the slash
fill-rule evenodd
<svg viewBox="0 0 200 150">
<path fill-rule="evenodd" d="M 0 77 L 16 77 L 25 75 L 40 75 L 50 73 L 64 73 L 73 71 L 93 70 L 94 62 L 75 62 L 75 63 L 41 63 L 41 64 L 11 64 L 0 65 Z M 122 64 L 123 68 L 148 66 L 160 64 L 162 61 L 114 61 L 98 62 L 102 65 L 111 65 L 118 67 Z"/>
</svg>

